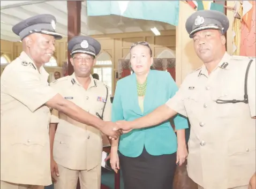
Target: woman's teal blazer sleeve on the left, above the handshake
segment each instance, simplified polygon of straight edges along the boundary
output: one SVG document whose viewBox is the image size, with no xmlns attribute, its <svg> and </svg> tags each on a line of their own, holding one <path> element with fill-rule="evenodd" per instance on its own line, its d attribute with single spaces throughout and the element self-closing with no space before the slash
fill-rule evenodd
<svg viewBox="0 0 256 189">
<path fill-rule="evenodd" d="M 112 122 L 117 122 L 118 120 L 124 120 L 124 113 L 122 107 L 122 99 L 121 99 L 121 88 L 119 87 L 119 81 L 117 81 L 116 91 L 114 96 L 114 101 L 112 103 Z"/>
</svg>

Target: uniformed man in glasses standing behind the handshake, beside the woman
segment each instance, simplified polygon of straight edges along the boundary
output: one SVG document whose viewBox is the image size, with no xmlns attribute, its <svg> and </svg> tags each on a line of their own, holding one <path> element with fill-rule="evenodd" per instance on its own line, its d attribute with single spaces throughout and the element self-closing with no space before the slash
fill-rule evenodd
<svg viewBox="0 0 256 189">
<path fill-rule="evenodd" d="M 68 43 L 74 73 L 50 86 L 82 109 L 111 120 L 109 89 L 91 75 L 100 43 L 89 36 L 75 36 Z M 104 111 L 104 112 L 103 112 Z M 58 124 L 56 130 L 56 124 Z M 56 131 L 56 133 L 55 133 Z M 76 122 L 62 112 L 52 111 L 50 125 L 52 177 L 55 189 L 100 189 L 102 137 L 100 130 Z M 54 141 L 53 141 L 54 139 Z M 57 164 L 55 163 L 57 162 Z M 57 176 L 57 177 L 56 177 Z"/>
</svg>

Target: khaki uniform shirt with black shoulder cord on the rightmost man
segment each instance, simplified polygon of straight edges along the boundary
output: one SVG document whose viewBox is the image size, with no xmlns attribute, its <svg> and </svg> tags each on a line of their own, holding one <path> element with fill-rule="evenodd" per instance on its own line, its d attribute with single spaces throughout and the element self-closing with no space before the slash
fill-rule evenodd
<svg viewBox="0 0 256 189">
<path fill-rule="evenodd" d="M 205 65 L 189 74 L 167 105 L 191 124 L 187 171 L 204 188 L 248 185 L 255 172 L 255 58 L 248 77 L 249 104 L 244 100 L 250 59 L 226 54 L 210 75 Z"/>
</svg>

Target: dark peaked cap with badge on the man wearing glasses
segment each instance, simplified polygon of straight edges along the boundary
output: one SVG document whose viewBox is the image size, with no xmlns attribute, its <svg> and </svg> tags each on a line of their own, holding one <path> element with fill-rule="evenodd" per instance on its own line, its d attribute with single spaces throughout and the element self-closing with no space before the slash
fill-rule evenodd
<svg viewBox="0 0 256 189">
<path fill-rule="evenodd" d="M 74 36 L 67 44 L 71 56 L 77 53 L 84 53 L 96 57 L 101 51 L 101 44 L 93 37 Z"/>
</svg>

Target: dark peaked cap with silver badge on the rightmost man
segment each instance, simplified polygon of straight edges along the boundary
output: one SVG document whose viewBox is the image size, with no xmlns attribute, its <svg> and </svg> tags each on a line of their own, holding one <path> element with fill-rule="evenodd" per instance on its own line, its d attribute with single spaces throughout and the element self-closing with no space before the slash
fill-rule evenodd
<svg viewBox="0 0 256 189">
<path fill-rule="evenodd" d="M 190 38 L 204 29 L 217 29 L 224 34 L 229 28 L 229 19 L 224 13 L 215 10 L 200 10 L 186 20 L 186 31 Z"/>
</svg>

